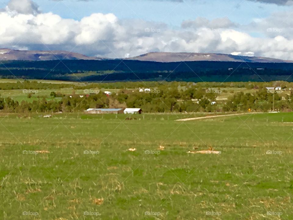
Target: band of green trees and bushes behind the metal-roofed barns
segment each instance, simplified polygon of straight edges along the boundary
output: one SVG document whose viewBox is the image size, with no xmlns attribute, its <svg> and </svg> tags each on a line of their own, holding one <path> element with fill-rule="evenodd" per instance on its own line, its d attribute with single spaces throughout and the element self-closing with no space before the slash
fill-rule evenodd
<svg viewBox="0 0 293 220">
<path fill-rule="evenodd" d="M 32 86 L 31 82 L 29 84 Z M 277 84 L 281 83 L 277 82 Z M 0 110 L 4 112 L 82 112 L 87 108 L 128 107 L 142 108 L 144 112 L 238 112 L 248 111 L 248 109 L 266 112 L 293 109 L 293 93 L 282 94 L 286 89 L 285 86 L 282 90 L 269 92 L 265 83 L 244 83 L 238 86 L 252 89 L 253 92 L 234 93 L 230 87 L 228 88 L 228 83 L 226 89 L 225 87 L 203 87 L 206 86 L 204 83 L 168 82 L 156 85 L 147 90 L 142 89 L 142 92 L 139 92 L 138 89 L 120 89 L 110 96 L 103 92 L 68 95 L 52 91 L 48 97 L 28 94 L 28 98 L 36 97 L 37 100 L 21 101 L 20 103 L 11 97 L 0 97 Z M 87 86 L 77 86 L 77 88 L 80 87 L 86 88 Z M 237 83 L 234 83 L 234 87 L 237 87 Z M 217 100 L 221 94 L 227 94 L 229 98 Z"/>
</svg>

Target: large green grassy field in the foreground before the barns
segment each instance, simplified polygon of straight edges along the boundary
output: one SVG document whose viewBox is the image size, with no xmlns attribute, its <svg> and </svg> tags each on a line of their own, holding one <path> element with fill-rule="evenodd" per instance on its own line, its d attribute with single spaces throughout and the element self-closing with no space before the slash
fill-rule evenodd
<svg viewBox="0 0 293 220">
<path fill-rule="evenodd" d="M 0 115 L 0 219 L 293 219 L 292 113 L 188 116 Z"/>
</svg>

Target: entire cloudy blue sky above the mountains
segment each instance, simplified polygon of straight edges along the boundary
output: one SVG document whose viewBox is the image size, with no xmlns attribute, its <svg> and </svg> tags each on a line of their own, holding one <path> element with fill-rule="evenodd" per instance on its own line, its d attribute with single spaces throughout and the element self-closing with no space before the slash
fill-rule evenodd
<svg viewBox="0 0 293 220">
<path fill-rule="evenodd" d="M 110 58 L 199 52 L 293 60 L 293 1 L 0 0 L 0 47 Z"/>
</svg>

